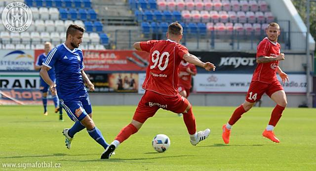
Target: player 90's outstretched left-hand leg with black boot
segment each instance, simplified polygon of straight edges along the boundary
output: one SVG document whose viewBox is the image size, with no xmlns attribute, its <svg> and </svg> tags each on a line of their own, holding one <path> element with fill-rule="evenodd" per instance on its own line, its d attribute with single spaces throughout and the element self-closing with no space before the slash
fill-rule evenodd
<svg viewBox="0 0 316 171">
<path fill-rule="evenodd" d="M 142 99 L 139 101 L 136 111 L 134 113 L 133 119 L 130 124 L 122 128 L 118 135 L 115 137 L 114 141 L 110 144 L 110 146 L 105 149 L 105 151 L 101 155 L 101 159 L 109 159 L 114 152 L 115 149 L 118 148 L 118 145 L 126 140 L 130 135 L 136 133 L 145 121 L 153 117 L 157 110 L 159 109 L 156 105 L 151 105 L 149 103 L 150 99 L 155 99 L 158 97 L 158 94 L 152 91 L 146 91 L 143 95 Z"/>
</svg>

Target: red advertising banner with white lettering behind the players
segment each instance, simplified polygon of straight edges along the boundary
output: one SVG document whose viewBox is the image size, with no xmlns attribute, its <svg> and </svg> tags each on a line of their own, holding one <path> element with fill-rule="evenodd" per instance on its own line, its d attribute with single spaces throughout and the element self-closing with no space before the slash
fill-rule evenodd
<svg viewBox="0 0 316 171">
<path fill-rule="evenodd" d="M 35 50 L 35 61 L 43 53 Z M 148 53 L 134 50 L 83 50 L 85 71 L 146 71 Z"/>
</svg>

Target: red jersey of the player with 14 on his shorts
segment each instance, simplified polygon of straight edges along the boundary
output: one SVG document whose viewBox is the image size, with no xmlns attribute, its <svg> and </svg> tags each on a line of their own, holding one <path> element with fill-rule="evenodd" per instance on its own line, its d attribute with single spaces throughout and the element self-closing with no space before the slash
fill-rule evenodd
<svg viewBox="0 0 316 171">
<path fill-rule="evenodd" d="M 270 41 L 267 37 L 263 39 L 257 47 L 257 57 L 277 56 L 280 54 L 280 44 Z M 253 73 L 251 81 L 272 83 L 276 78 L 278 61 L 259 63 Z"/>
</svg>

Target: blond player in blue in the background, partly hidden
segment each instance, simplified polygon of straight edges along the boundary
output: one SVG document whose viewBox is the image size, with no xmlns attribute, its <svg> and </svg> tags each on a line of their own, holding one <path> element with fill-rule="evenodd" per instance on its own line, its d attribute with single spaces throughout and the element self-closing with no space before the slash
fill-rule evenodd
<svg viewBox="0 0 316 171">
<path fill-rule="evenodd" d="M 51 50 L 51 43 L 49 42 L 45 42 L 44 43 L 44 53 L 40 54 L 38 56 L 38 59 L 35 63 L 34 69 L 35 70 L 40 70 L 40 68 L 42 67 L 42 63 L 44 61 L 44 59 L 46 58 L 48 52 Z M 55 70 L 54 68 L 52 68 L 51 70 L 48 71 L 48 76 L 49 78 L 55 82 Z M 44 115 L 47 116 L 48 112 L 47 112 L 47 92 L 48 92 L 48 86 L 44 80 L 40 77 L 40 91 L 42 92 L 42 101 L 43 101 L 43 106 L 44 106 Z M 63 109 L 62 107 L 59 106 L 59 99 L 57 96 L 57 93 L 53 93 L 52 94 L 52 98 L 55 104 L 55 113 L 57 113 L 59 111 L 59 120 L 60 121 L 64 121 L 63 120 Z"/>
</svg>

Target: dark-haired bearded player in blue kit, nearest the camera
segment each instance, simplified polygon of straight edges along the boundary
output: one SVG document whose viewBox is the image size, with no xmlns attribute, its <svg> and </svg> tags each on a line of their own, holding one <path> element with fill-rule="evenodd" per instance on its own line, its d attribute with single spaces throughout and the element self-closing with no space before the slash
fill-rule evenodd
<svg viewBox="0 0 316 171">
<path fill-rule="evenodd" d="M 72 128 L 63 130 L 67 148 L 71 148 L 74 135 L 86 128 L 89 135 L 106 149 L 109 144 L 91 119 L 92 107 L 84 86 L 86 83 L 91 91 L 94 90 L 94 85 L 83 71 L 83 55 L 82 51 L 78 49 L 82 43 L 83 33 L 84 28 L 71 24 L 66 32 L 65 43 L 53 48 L 42 63 L 40 76 L 49 85 L 52 92 L 57 90 L 61 105 L 70 119 L 75 122 Z M 48 71 L 52 67 L 55 67 L 56 84 L 48 76 Z"/>
</svg>

